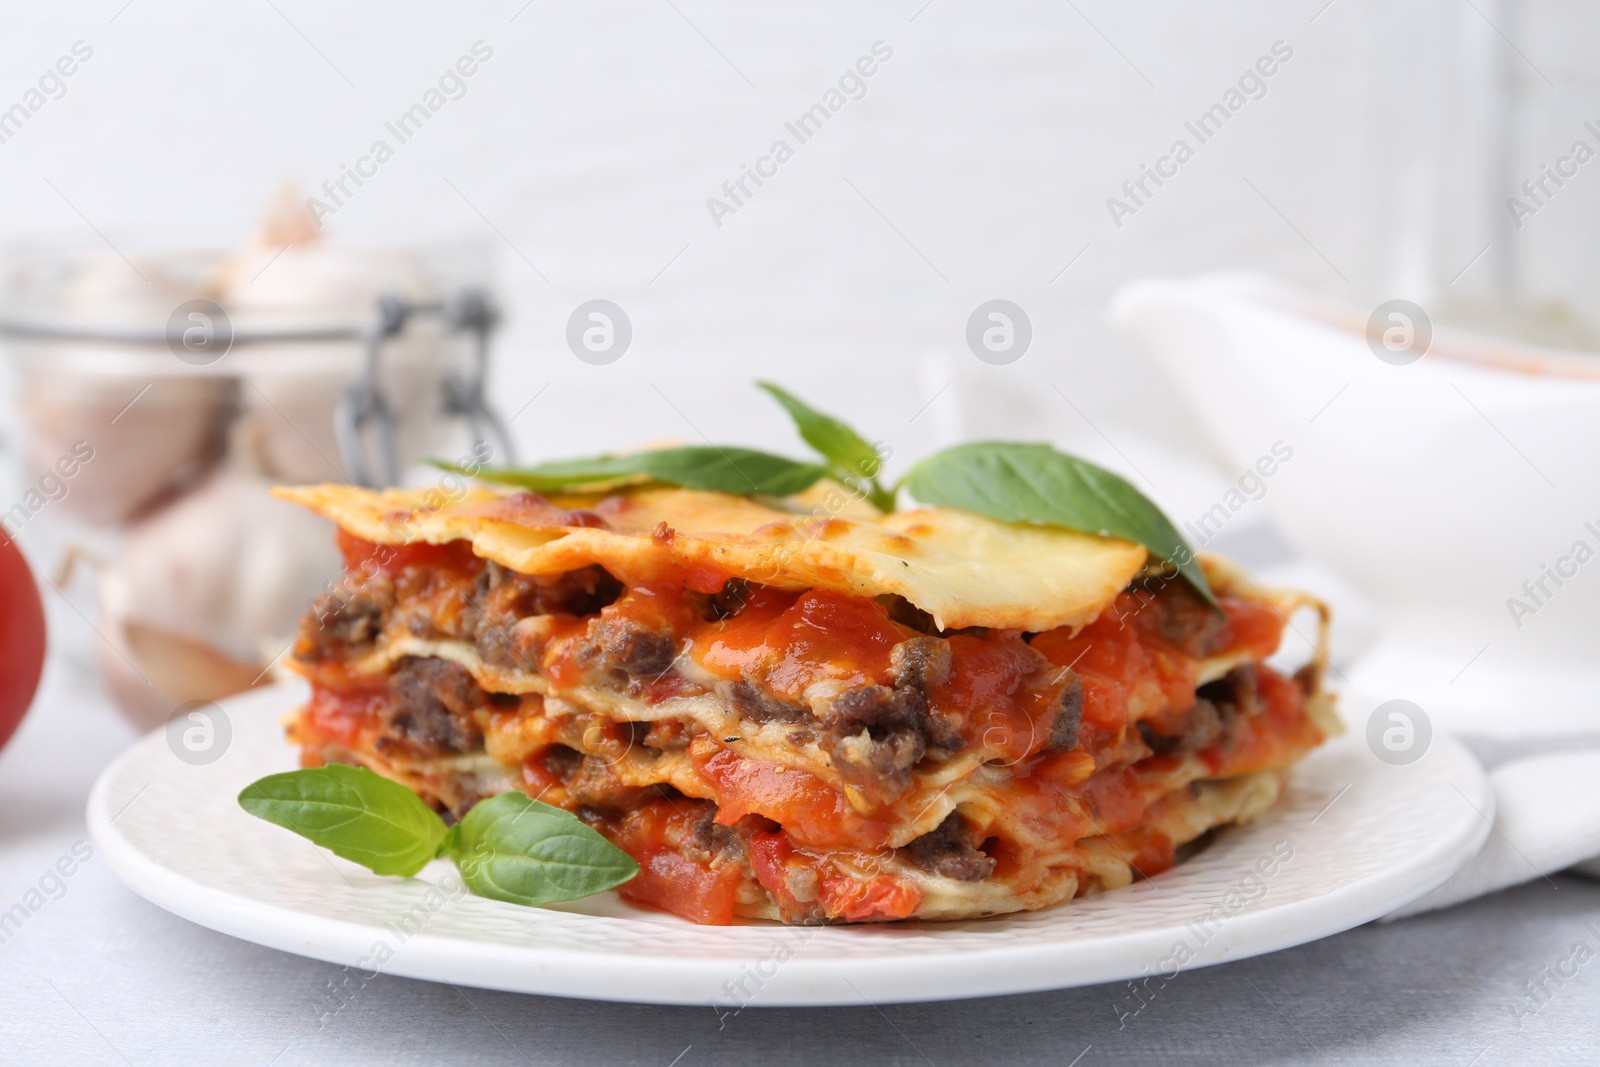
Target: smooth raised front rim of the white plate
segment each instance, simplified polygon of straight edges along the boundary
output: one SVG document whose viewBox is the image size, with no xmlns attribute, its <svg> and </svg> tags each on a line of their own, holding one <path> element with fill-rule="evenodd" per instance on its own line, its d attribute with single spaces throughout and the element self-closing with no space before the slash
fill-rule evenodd
<svg viewBox="0 0 1600 1067">
<path fill-rule="evenodd" d="M 227 697 L 219 704 L 224 707 L 256 702 L 275 705 L 290 693 L 298 693 L 298 688 L 277 685 Z M 1330 739 L 1328 744 L 1354 742 L 1354 737 L 1346 736 Z M 88 797 L 90 835 L 123 885 L 157 907 L 208 929 L 325 963 L 360 966 L 374 942 L 386 936 L 384 928 L 307 913 L 291 905 L 270 904 L 206 886 L 147 856 L 114 825 L 117 816 L 109 814 L 109 790 L 118 773 L 144 749 L 155 744 L 165 744 L 163 729 L 150 731 L 123 749 L 96 777 Z M 1461 790 L 1462 782 L 1451 779 L 1451 784 L 1462 792 L 1462 797 L 1477 808 L 1482 817 L 1470 822 L 1462 819 L 1453 837 L 1446 835 L 1434 841 L 1429 849 L 1405 867 L 1370 873 L 1315 897 L 1261 909 L 1246 907 L 1229 918 L 1227 937 L 1219 936 L 1205 942 L 1194 958 L 1182 965 L 1181 971 L 1280 952 L 1352 929 L 1422 897 L 1454 875 L 1478 853 L 1493 829 L 1494 790 L 1482 765 L 1459 741 L 1445 733 L 1435 733 L 1432 745 L 1448 752 L 1453 761 L 1472 776 L 1470 785 L 1475 787 L 1477 797 L 1470 795 L 1474 789 Z M 1070 907 L 1070 904 L 1056 907 Z M 1003 921 L 1006 917 L 994 918 Z M 606 918 L 602 921 L 650 920 Z M 966 921 L 982 923 L 987 920 Z M 672 925 L 675 929 L 683 928 L 677 921 L 662 925 Z M 917 925 L 918 929 L 930 926 L 938 925 Z M 773 939 L 792 934 L 792 931 L 851 928 L 752 925 L 746 929 L 766 931 L 770 937 L 765 945 L 770 945 Z M 755 955 L 749 960 L 731 957 L 624 957 L 595 949 L 499 945 L 424 929 L 410 936 L 403 945 L 405 952 L 398 952 L 386 961 L 381 973 L 502 992 L 616 1003 L 712 1006 L 730 1011 L 755 1006 L 925 1003 L 1136 979 L 1149 974 L 1149 968 L 1141 971 L 1134 965 L 1149 965 L 1158 958 L 1173 945 L 1173 937 L 1179 929 L 1179 925 L 1173 923 L 1130 931 L 1117 937 L 1088 941 L 1072 952 L 1062 952 L 1059 941 L 1048 939 L 1022 945 L 1008 941 L 992 949 L 963 945 L 949 952 L 922 950 L 914 957 L 883 953 L 837 960 L 806 958 L 803 953 L 795 953 L 778 968 L 776 977 L 770 979 L 771 989 L 763 982 L 758 985 L 758 998 L 739 1003 L 720 1003 L 715 992 L 707 995 L 706 987 L 733 974 L 736 965 L 760 963 Z M 512 966 L 517 963 L 522 966 Z M 958 974 L 947 973 L 950 965 L 958 965 Z"/>
</svg>

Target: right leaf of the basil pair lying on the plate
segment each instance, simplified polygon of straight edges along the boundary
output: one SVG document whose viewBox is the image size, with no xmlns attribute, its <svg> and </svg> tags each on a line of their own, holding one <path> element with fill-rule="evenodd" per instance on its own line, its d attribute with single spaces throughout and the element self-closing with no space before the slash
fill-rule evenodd
<svg viewBox="0 0 1600 1067">
<path fill-rule="evenodd" d="M 451 857 L 478 896 L 539 907 L 622 885 L 638 864 L 578 816 L 510 792 L 480 800 L 451 833 Z"/>
</svg>

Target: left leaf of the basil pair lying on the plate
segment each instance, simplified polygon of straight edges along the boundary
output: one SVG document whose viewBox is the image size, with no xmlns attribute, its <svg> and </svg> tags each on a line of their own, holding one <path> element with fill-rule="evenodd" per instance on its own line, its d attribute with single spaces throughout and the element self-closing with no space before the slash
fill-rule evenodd
<svg viewBox="0 0 1600 1067">
<path fill-rule="evenodd" d="M 238 793 L 238 806 L 376 875 L 414 875 L 445 840 L 443 819 L 421 797 L 365 766 L 269 774 Z"/>
</svg>

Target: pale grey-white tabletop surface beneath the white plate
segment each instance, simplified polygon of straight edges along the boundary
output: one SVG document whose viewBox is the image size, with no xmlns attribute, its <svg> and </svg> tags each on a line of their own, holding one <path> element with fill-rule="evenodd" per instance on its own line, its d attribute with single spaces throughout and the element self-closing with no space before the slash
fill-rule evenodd
<svg viewBox="0 0 1600 1067">
<path fill-rule="evenodd" d="M 85 622 L 56 600 L 51 624 L 43 689 L 0 755 L 0 910 L 86 838 L 90 784 L 133 737 L 94 686 Z M 1547 977 L 1578 942 L 1595 958 Z M 1563 875 L 1187 973 L 1126 1019 L 1125 985 L 720 1019 L 390 976 L 322 1019 L 339 968 L 168 915 L 93 857 L 0 942 L 0 974 L 5 1064 L 1584 1062 L 1600 883 Z M 1530 981 L 1547 1003 L 1518 1017 Z"/>
</svg>

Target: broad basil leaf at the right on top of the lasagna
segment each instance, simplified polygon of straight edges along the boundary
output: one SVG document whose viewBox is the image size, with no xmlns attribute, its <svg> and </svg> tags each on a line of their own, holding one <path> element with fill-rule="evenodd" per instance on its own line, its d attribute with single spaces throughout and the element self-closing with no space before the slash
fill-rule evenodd
<svg viewBox="0 0 1600 1067">
<path fill-rule="evenodd" d="M 1194 550 L 1162 509 L 1120 475 L 1050 445 L 957 445 L 912 467 L 904 485 L 923 504 L 1133 541 L 1218 608 Z"/>
</svg>

